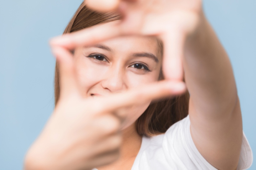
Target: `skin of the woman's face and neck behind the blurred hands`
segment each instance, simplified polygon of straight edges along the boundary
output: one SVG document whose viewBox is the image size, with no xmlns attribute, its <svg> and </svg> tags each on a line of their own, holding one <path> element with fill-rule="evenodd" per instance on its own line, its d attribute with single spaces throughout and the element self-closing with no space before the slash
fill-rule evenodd
<svg viewBox="0 0 256 170">
<path fill-rule="evenodd" d="M 108 96 L 110 93 L 123 92 L 140 85 L 156 82 L 161 69 L 161 58 L 158 52 L 156 38 L 150 37 L 118 37 L 96 45 L 97 47 L 79 48 L 75 53 L 75 63 L 79 82 L 83 87 L 86 97 Z M 102 49 L 102 47 L 109 49 Z M 99 48 L 101 47 L 101 48 Z M 99 55 L 88 57 L 91 54 Z M 142 53 L 150 53 L 157 57 L 144 56 Z M 140 54 L 137 57 L 134 55 Z M 86 57 L 85 57 L 86 56 Z M 102 56 L 105 56 L 103 58 Z M 146 68 L 135 63 L 146 64 Z M 142 137 L 136 131 L 135 121 L 147 109 L 150 103 L 140 106 L 125 108 L 124 122 L 120 127 L 123 134 L 120 146 L 120 156 L 113 164 L 97 167 L 105 169 L 131 169 L 132 164 L 140 150 Z"/>
</svg>

